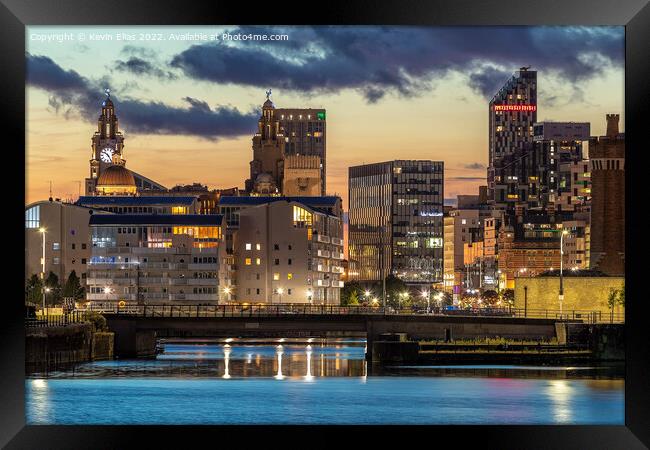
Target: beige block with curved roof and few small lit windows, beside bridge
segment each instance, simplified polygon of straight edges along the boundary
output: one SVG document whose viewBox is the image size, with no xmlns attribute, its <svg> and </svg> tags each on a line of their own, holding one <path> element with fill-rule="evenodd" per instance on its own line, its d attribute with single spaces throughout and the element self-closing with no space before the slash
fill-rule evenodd
<svg viewBox="0 0 650 450">
<path fill-rule="evenodd" d="M 238 215 L 233 301 L 340 303 L 344 268 L 339 216 L 289 199 L 261 203 Z"/>
</svg>

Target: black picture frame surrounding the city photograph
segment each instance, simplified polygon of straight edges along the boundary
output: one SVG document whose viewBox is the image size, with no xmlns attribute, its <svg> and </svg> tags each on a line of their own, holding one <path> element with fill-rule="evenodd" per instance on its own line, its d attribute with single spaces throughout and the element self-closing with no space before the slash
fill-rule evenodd
<svg viewBox="0 0 650 450">
<path fill-rule="evenodd" d="M 2 389 L 0 394 L 0 444 L 6 448 L 124 448 L 141 440 L 145 448 L 181 448 L 199 445 L 311 446 L 351 444 L 386 433 L 396 433 L 398 445 L 441 445 L 461 448 L 475 443 L 481 448 L 637 449 L 650 446 L 650 339 L 647 334 L 647 300 L 637 274 L 642 274 L 645 241 L 640 186 L 647 170 L 647 127 L 650 104 L 650 5 L 647 0 L 489 0 L 489 1 L 284 1 L 275 3 L 158 0 L 0 0 L 0 111 L 2 112 L 4 199 L 10 201 L 11 223 L 5 224 L 6 241 L 19 241 L 24 223 L 18 209 L 24 198 L 12 192 L 13 183 L 24 185 L 25 149 L 25 26 L 26 25 L 216 25 L 216 24 L 386 24 L 386 25 L 624 25 L 626 28 L 625 132 L 626 174 L 626 290 L 631 300 L 626 311 L 626 378 L 624 426 L 425 426 L 425 427 L 233 427 L 233 426 L 25 426 L 24 324 L 19 291 L 23 266 L 15 260 L 18 247 L 4 255 L 11 272 L 5 275 L 2 298 Z M 303 15 L 300 15 L 302 13 Z M 307 14 L 308 13 L 308 14 Z M 10 172 L 10 173 L 8 173 Z M 647 177 L 647 175 L 646 175 Z M 637 186 L 639 185 L 639 186 Z M 635 190 L 636 187 L 636 190 Z M 22 202 L 22 203 L 21 203 Z M 636 206 L 635 206 L 636 205 Z M 631 226 L 635 224 L 635 226 Z M 641 226 L 638 226 L 639 224 Z M 297 431 L 300 433 L 297 437 Z M 343 438 L 341 433 L 347 432 Z M 206 443 L 199 443 L 205 439 Z M 297 441 L 293 441 L 297 439 Z M 306 440 L 305 440 L 306 439 Z M 401 439 L 404 439 L 401 441 Z M 302 443 L 301 443 L 302 442 Z M 447 442 L 447 444 L 443 444 Z M 363 445 L 363 444 L 362 444 Z"/>
</svg>

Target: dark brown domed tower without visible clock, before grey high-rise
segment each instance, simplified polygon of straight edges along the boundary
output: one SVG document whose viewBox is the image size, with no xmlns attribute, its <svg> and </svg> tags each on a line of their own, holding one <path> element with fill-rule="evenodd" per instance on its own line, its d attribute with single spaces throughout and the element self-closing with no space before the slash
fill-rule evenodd
<svg viewBox="0 0 650 450">
<path fill-rule="evenodd" d="M 264 191 L 269 186 L 268 177 L 262 177 L 264 183 L 256 183 L 260 174 L 269 175 L 273 186 L 281 188 L 283 185 L 285 138 L 280 132 L 280 122 L 275 117 L 275 105 L 270 97 L 269 89 L 257 123 L 257 133 L 253 136 L 253 160 L 250 162 L 250 177 L 246 180 L 249 194 L 268 194 L 256 190 L 256 185 L 265 186 Z"/>
</svg>

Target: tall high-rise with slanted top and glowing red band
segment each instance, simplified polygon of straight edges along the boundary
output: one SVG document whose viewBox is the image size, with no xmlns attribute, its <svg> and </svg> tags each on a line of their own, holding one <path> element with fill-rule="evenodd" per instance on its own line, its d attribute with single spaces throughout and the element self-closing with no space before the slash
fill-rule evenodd
<svg viewBox="0 0 650 450">
<path fill-rule="evenodd" d="M 508 206 L 508 195 L 515 194 L 502 172 L 533 142 L 537 72 L 528 69 L 515 72 L 489 104 L 488 198 L 501 209 Z"/>
</svg>

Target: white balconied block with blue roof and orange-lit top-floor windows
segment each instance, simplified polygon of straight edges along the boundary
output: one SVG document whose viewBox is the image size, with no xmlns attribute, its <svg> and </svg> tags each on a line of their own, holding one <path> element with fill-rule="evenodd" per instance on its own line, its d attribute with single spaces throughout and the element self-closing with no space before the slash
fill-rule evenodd
<svg viewBox="0 0 650 450">
<path fill-rule="evenodd" d="M 222 219 L 214 214 L 93 214 L 87 300 L 102 307 L 217 304 L 229 286 L 221 265 Z"/>
</svg>

